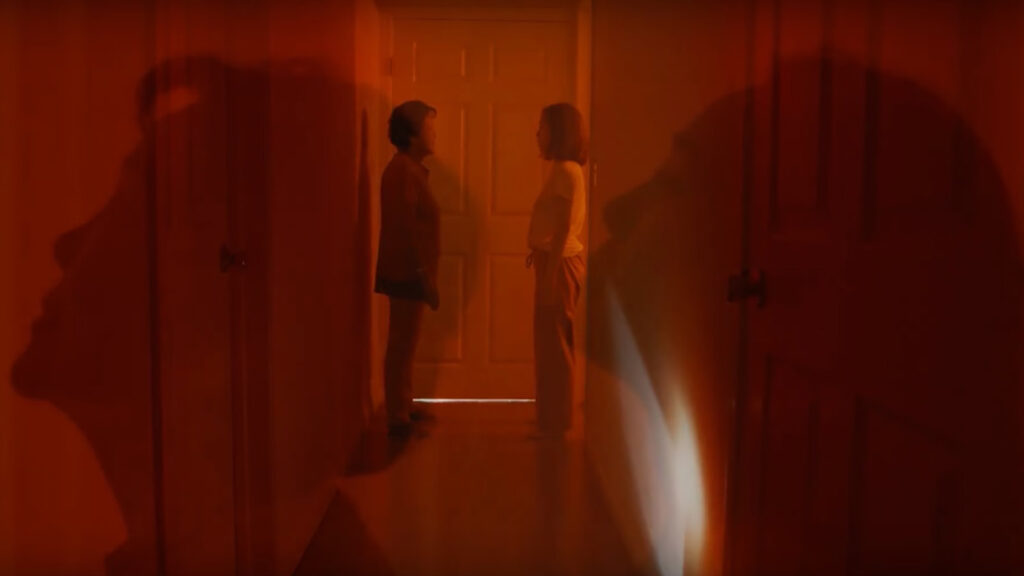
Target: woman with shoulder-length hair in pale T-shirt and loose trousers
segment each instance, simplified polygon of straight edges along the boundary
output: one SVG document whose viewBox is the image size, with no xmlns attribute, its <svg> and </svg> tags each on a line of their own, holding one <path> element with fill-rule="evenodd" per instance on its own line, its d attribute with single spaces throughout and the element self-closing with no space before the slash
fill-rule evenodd
<svg viewBox="0 0 1024 576">
<path fill-rule="evenodd" d="M 534 357 L 537 420 L 542 436 L 563 436 L 572 423 L 573 317 L 583 286 L 581 235 L 587 199 L 583 165 L 587 137 L 583 115 L 570 104 L 541 112 L 537 143 L 544 186 L 530 214 L 527 265 L 536 274 Z"/>
</svg>

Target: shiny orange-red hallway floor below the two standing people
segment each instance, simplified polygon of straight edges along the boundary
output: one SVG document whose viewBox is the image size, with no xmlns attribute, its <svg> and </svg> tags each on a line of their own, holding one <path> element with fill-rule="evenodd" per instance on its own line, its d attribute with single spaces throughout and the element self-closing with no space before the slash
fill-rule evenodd
<svg viewBox="0 0 1024 576">
<path fill-rule="evenodd" d="M 529 438 L 532 404 L 431 411 L 400 450 L 365 443 L 297 574 L 636 573 L 582 439 Z"/>
</svg>

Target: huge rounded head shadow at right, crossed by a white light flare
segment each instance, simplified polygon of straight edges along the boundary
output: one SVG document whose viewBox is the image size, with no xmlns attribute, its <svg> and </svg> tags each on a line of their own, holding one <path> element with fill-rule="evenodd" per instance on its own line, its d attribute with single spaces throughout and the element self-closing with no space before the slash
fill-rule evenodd
<svg viewBox="0 0 1024 576">
<path fill-rule="evenodd" d="M 833 83 L 830 113 L 799 114 L 794 94 L 816 89 L 822 77 Z M 842 525 L 863 530 L 847 535 L 857 546 L 848 558 L 868 571 L 1008 566 L 1021 533 L 1014 486 L 1024 294 L 1010 191 L 967 121 L 912 81 L 842 58 L 786 61 L 777 78 L 777 90 L 759 83 L 708 107 L 676 134 L 657 173 L 602 214 L 610 238 L 591 260 L 589 361 L 592 374 L 611 378 L 589 382 L 588 436 L 605 482 L 616 485 L 617 508 L 627 510 L 621 522 L 646 535 L 649 563 L 664 573 L 679 573 L 666 567 L 684 558 L 686 573 L 702 572 L 701 556 L 720 562 L 738 418 L 730 505 L 737 522 L 761 534 L 738 531 L 734 557 L 785 573 L 772 563 L 786 542 L 803 541 L 804 553 L 831 570 L 847 558 L 830 547 Z M 825 129 L 805 129 L 821 118 Z M 801 156 L 808 133 L 822 139 Z M 823 207 L 815 200 L 822 196 Z M 769 281 L 765 306 L 746 304 L 740 348 L 740 304 L 727 301 L 727 279 L 744 263 L 743 235 L 750 265 Z M 762 356 L 740 358 L 740 349 Z M 737 366 L 766 355 L 825 376 L 780 383 L 769 396 L 758 366 Z M 738 387 L 737 375 L 746 376 Z M 831 424 L 805 425 L 814 410 Z M 842 429 L 854 436 L 835 431 Z M 830 445 L 845 448 L 827 457 L 808 452 L 814 442 L 855 437 Z M 623 462 L 628 471 L 609 467 Z M 952 492 L 929 503 L 935 479 L 925 468 L 957 470 L 936 472 Z M 808 500 L 799 495 L 810 489 L 799 482 L 796 492 L 784 489 L 798 477 L 824 483 L 831 477 L 821 475 L 836 470 L 846 470 L 860 503 L 833 502 L 831 524 L 803 507 Z M 919 545 L 914 531 L 926 517 L 907 511 L 919 504 L 955 509 L 936 522 L 942 537 L 956 536 Z M 743 516 L 751 509 L 761 516 Z M 672 526 L 685 538 L 659 536 L 657 510 L 678 517 Z M 812 515 L 801 518 L 817 528 L 792 532 L 797 525 L 783 517 L 798 512 Z M 890 520 L 903 528 L 886 528 Z M 931 532 L 921 534 L 931 541 Z M 949 564 L 942 549 L 977 564 Z"/>
</svg>

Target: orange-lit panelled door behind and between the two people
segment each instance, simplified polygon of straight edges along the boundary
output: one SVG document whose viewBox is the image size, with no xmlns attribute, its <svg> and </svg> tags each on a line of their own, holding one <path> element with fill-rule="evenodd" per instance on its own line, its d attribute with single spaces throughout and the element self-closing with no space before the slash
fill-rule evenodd
<svg viewBox="0 0 1024 576">
<path fill-rule="evenodd" d="M 441 307 L 426 315 L 414 394 L 532 398 L 525 238 L 541 187 L 536 132 L 545 106 L 573 99 L 574 25 L 392 22 L 391 101 L 437 109 L 427 164 L 442 212 Z"/>
</svg>

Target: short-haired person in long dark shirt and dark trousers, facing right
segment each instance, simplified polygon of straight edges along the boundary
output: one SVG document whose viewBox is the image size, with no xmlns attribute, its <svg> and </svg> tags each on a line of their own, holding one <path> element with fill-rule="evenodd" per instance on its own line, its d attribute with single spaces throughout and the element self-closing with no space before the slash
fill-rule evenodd
<svg viewBox="0 0 1024 576">
<path fill-rule="evenodd" d="M 375 291 L 388 297 L 384 390 L 388 431 L 406 437 L 414 420 L 413 358 L 424 304 L 436 311 L 440 257 L 440 209 L 428 183 L 423 160 L 433 154 L 437 111 L 420 100 L 391 112 L 388 138 L 397 152 L 381 177 L 381 235 Z"/>
</svg>

